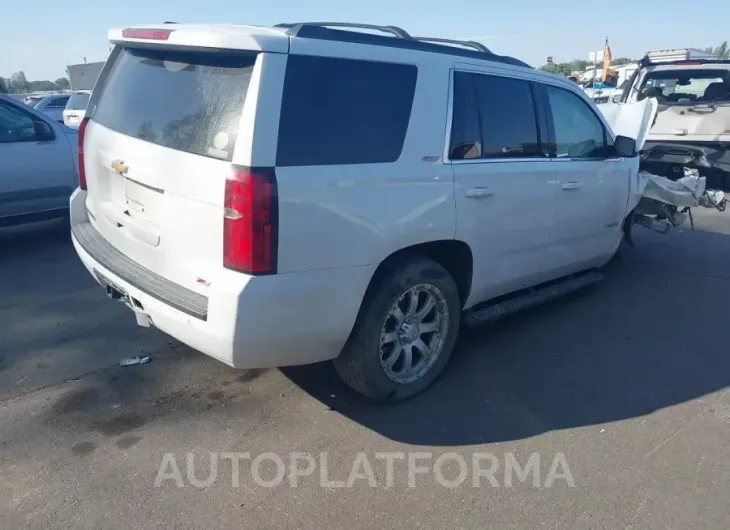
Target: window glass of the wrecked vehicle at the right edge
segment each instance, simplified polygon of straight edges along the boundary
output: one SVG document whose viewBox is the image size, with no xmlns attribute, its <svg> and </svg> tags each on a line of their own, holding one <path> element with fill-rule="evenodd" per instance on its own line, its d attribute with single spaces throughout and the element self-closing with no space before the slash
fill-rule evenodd
<svg viewBox="0 0 730 530">
<path fill-rule="evenodd" d="M 730 69 L 649 72 L 641 82 L 638 99 L 647 97 L 664 105 L 730 103 Z"/>
</svg>

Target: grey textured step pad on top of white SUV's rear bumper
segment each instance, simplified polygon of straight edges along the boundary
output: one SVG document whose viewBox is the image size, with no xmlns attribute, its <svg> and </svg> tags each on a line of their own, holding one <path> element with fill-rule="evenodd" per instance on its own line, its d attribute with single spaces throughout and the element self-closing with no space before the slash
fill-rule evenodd
<svg viewBox="0 0 730 530">
<path fill-rule="evenodd" d="M 91 223 L 74 225 L 71 233 L 101 266 L 131 286 L 187 315 L 208 319 L 208 297 L 171 282 L 129 259 L 104 239 Z"/>
</svg>

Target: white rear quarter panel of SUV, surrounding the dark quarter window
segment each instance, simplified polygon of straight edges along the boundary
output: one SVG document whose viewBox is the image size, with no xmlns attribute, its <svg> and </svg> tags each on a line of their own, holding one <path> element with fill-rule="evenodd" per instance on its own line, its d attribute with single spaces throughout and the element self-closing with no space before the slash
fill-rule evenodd
<svg viewBox="0 0 730 530">
<path fill-rule="evenodd" d="M 292 52 L 331 55 L 331 43 L 294 39 Z M 415 64 L 419 67 L 408 132 L 400 158 L 389 164 L 281 167 L 279 272 L 380 263 L 391 253 L 418 243 L 453 239 L 456 229 L 453 172 L 442 160 L 447 122 L 449 64 L 434 67 L 433 54 L 394 59 L 392 50 L 343 44 L 337 56 Z M 285 56 L 277 58 L 286 60 Z M 428 63 L 426 63 L 428 60 Z M 425 67 L 428 64 L 428 67 Z M 277 70 L 283 75 L 283 64 Z M 272 68 L 272 72 L 273 72 Z M 263 79 L 263 78 L 262 78 Z M 283 78 L 263 79 L 268 88 L 268 145 L 276 145 Z M 354 104 L 355 102 L 353 102 Z M 264 129 L 260 129 L 262 132 Z M 275 153 L 261 162 L 273 165 Z M 273 157 L 273 159 L 272 159 Z"/>
</svg>

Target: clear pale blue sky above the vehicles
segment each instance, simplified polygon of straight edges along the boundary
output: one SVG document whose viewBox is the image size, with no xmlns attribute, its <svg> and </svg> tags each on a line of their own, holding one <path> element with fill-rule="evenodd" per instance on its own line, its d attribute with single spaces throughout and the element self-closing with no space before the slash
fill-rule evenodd
<svg viewBox="0 0 730 530">
<path fill-rule="evenodd" d="M 273 25 L 347 21 L 400 26 L 412 35 L 480 40 L 533 66 L 588 59 L 608 37 L 614 57 L 648 50 L 717 46 L 730 40 L 730 3 L 708 8 L 664 0 L 46 0 L 17 3 L 0 17 L 0 77 L 23 70 L 29 81 L 64 77 L 67 64 L 103 61 L 107 30 L 164 21 Z M 643 4 L 643 5 L 642 5 Z M 709 5 L 709 4 L 708 4 Z M 608 8 L 604 7 L 608 6 Z"/>
</svg>

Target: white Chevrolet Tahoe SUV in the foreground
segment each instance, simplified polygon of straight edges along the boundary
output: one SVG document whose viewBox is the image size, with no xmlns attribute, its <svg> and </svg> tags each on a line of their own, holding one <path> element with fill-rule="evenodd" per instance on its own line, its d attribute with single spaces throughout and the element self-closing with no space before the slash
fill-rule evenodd
<svg viewBox="0 0 730 530">
<path fill-rule="evenodd" d="M 636 143 L 568 80 L 392 26 L 110 40 L 73 243 L 141 325 L 228 365 L 333 359 L 404 399 L 460 323 L 593 283 L 619 247 Z"/>
</svg>

